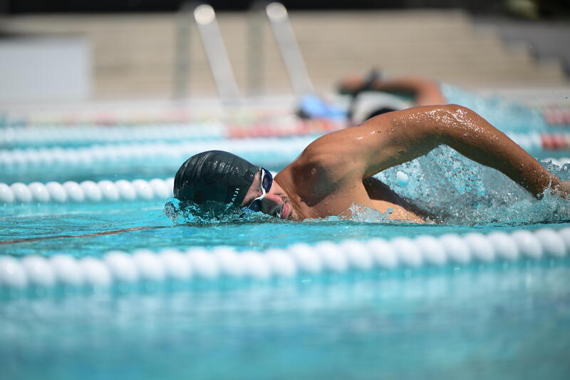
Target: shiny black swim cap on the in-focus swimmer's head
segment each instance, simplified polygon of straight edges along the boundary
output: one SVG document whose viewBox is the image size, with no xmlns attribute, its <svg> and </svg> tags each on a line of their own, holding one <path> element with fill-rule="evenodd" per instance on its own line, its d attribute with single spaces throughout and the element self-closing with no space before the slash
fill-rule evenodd
<svg viewBox="0 0 570 380">
<path fill-rule="evenodd" d="M 174 178 L 174 196 L 201 204 L 208 200 L 239 207 L 254 182 L 259 166 L 222 150 L 188 158 Z"/>
</svg>

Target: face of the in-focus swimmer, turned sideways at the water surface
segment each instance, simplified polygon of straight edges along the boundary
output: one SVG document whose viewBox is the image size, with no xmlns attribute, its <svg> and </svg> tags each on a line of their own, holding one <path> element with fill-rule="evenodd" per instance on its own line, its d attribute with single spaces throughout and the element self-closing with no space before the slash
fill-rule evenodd
<svg viewBox="0 0 570 380">
<path fill-rule="evenodd" d="M 241 207 L 249 207 L 261 195 L 263 195 L 263 188 L 261 187 L 261 170 L 259 170 L 255 175 L 254 182 L 247 190 Z M 289 197 L 275 181 L 271 185 L 271 189 L 266 191 L 265 197 L 258 202 L 261 202 L 260 211 L 266 215 L 281 219 L 300 220 L 299 213 L 296 212 Z"/>
</svg>

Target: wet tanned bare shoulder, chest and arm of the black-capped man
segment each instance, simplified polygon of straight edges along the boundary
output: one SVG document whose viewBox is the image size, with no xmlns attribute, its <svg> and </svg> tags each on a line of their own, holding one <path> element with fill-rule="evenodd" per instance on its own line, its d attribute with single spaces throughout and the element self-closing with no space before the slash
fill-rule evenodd
<svg viewBox="0 0 570 380">
<path fill-rule="evenodd" d="M 295 220 L 350 217 L 354 203 L 380 212 L 390 208 L 391 219 L 423 222 L 410 205 L 371 176 L 425 155 L 440 144 L 500 170 L 536 197 L 546 188 L 563 197 L 569 194 L 568 183 L 551 175 L 480 115 L 457 105 L 385 113 L 357 127 L 323 135 L 276 175 L 274 182 L 297 210 Z"/>
</svg>

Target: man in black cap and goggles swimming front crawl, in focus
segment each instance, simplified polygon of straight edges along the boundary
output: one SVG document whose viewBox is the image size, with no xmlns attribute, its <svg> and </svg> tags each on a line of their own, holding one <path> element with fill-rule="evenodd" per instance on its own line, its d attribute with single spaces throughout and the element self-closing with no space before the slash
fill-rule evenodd
<svg viewBox="0 0 570 380">
<path fill-rule="evenodd" d="M 181 202 L 212 201 L 286 220 L 350 218 L 351 206 L 358 205 L 386 213 L 388 219 L 421 223 L 425 215 L 373 175 L 440 144 L 501 171 L 537 198 L 546 189 L 566 198 L 570 193 L 569 183 L 507 135 L 474 111 L 450 104 L 384 113 L 323 135 L 275 178 L 232 153 L 199 153 L 178 170 L 174 195 Z"/>
</svg>

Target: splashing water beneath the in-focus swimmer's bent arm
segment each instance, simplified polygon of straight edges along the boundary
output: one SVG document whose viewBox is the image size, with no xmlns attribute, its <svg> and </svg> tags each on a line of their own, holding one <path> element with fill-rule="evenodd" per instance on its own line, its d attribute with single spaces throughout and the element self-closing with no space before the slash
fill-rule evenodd
<svg viewBox="0 0 570 380">
<path fill-rule="evenodd" d="M 563 180 L 566 166 L 543 163 Z M 398 185 L 398 171 L 408 175 Z M 392 190 L 429 212 L 436 222 L 450 225 L 528 225 L 570 220 L 570 202 L 546 191 L 536 200 L 507 176 L 473 162 L 446 146 L 395 168 L 378 178 Z"/>
</svg>

